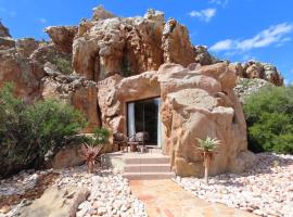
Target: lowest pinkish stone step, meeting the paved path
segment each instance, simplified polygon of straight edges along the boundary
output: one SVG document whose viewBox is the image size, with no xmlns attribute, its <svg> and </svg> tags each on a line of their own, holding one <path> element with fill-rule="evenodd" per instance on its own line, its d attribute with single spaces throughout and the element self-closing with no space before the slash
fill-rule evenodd
<svg viewBox="0 0 293 217">
<path fill-rule="evenodd" d="M 124 173 L 124 178 L 129 180 L 155 180 L 155 179 L 171 179 L 175 174 L 169 173 Z"/>
</svg>

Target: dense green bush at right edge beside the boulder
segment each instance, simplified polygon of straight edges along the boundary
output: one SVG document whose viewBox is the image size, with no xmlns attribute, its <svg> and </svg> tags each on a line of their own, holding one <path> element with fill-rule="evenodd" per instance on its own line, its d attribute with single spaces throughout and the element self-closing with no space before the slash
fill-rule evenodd
<svg viewBox="0 0 293 217">
<path fill-rule="evenodd" d="M 293 86 L 266 87 L 244 101 L 249 148 L 293 154 Z"/>
</svg>

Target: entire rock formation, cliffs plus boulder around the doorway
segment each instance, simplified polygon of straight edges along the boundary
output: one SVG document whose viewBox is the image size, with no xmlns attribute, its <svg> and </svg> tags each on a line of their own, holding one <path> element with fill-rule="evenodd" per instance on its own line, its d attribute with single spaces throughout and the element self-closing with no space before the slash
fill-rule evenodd
<svg viewBox="0 0 293 217">
<path fill-rule="evenodd" d="M 87 130 L 105 126 L 124 133 L 126 103 L 161 97 L 163 152 L 178 175 L 202 175 L 195 138 L 206 136 L 221 141 L 213 175 L 240 173 L 254 162 L 233 88 L 238 78 L 283 85 L 275 66 L 219 61 L 206 47 L 192 46 L 186 26 L 154 10 L 116 17 L 98 7 L 78 26 L 51 26 L 46 33 L 50 42 L 14 40 L 0 24 L 0 86 L 13 81 L 15 93 L 28 102 L 53 98 L 73 104 L 87 115 Z"/>
</svg>

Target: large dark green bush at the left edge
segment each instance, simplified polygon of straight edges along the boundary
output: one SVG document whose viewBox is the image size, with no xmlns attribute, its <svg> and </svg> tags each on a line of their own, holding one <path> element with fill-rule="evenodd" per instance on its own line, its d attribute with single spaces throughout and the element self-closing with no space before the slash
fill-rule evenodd
<svg viewBox="0 0 293 217">
<path fill-rule="evenodd" d="M 86 126 L 74 107 L 58 101 L 33 105 L 13 97 L 12 86 L 0 90 L 0 176 L 42 164 L 48 151 L 64 145 L 66 137 Z"/>
</svg>

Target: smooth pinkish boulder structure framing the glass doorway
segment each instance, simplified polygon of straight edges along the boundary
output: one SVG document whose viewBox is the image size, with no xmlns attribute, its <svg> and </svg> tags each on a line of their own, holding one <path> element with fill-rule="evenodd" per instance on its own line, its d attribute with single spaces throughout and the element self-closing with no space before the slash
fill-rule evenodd
<svg viewBox="0 0 293 217">
<path fill-rule="evenodd" d="M 211 174 L 241 173 L 254 159 L 247 151 L 246 124 L 233 92 L 235 72 L 228 63 L 190 71 L 177 64 L 122 78 L 112 76 L 99 84 L 103 125 L 126 132 L 126 102 L 160 97 L 165 126 L 163 152 L 173 158 L 180 176 L 201 176 L 203 164 L 196 138 L 221 141 Z"/>
</svg>

